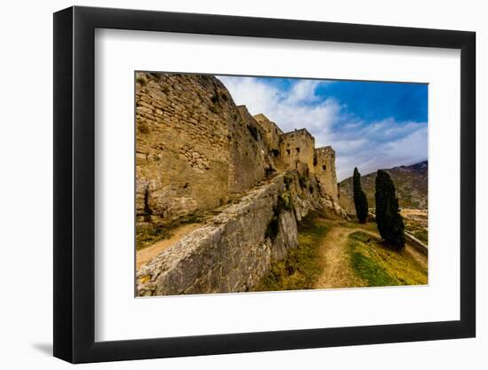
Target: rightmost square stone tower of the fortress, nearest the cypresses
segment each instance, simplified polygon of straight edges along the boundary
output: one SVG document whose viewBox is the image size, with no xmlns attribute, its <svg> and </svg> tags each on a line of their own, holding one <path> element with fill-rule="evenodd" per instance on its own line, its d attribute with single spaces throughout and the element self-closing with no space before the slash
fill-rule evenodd
<svg viewBox="0 0 488 370">
<path fill-rule="evenodd" d="M 319 180 L 320 185 L 334 201 L 337 201 L 339 194 L 335 175 L 335 151 L 332 146 L 322 146 L 315 149 L 313 164 L 315 177 Z"/>
</svg>

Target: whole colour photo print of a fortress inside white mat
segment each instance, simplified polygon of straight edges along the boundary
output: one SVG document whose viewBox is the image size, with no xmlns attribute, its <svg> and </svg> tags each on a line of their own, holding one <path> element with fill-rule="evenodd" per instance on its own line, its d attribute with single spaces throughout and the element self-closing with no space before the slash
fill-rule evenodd
<svg viewBox="0 0 488 370">
<path fill-rule="evenodd" d="M 136 295 L 428 284 L 428 85 L 136 72 Z"/>
</svg>

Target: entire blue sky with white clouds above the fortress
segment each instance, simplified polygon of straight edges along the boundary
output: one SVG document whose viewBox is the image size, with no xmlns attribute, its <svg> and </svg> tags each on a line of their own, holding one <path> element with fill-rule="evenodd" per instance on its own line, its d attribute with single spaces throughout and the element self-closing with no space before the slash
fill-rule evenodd
<svg viewBox="0 0 488 370">
<path fill-rule="evenodd" d="M 238 105 L 333 146 L 338 180 L 427 159 L 428 85 L 217 76 Z"/>
</svg>

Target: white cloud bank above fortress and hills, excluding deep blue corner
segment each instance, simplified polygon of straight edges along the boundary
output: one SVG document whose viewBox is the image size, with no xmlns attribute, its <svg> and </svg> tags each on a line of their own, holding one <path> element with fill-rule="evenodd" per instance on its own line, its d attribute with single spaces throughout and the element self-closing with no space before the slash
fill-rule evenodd
<svg viewBox="0 0 488 370">
<path fill-rule="evenodd" d="M 339 181 L 376 169 L 408 165 L 427 158 L 427 124 L 397 122 L 394 118 L 363 122 L 350 114 L 335 98 L 316 94 L 322 83 L 298 80 L 287 93 L 254 77 L 218 76 L 237 105 L 251 114 L 265 114 L 287 132 L 306 128 L 316 146 L 333 146 Z"/>
</svg>

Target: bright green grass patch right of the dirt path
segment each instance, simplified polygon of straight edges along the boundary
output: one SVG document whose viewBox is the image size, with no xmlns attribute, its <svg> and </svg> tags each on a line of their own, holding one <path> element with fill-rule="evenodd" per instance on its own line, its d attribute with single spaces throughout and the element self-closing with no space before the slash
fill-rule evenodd
<svg viewBox="0 0 488 370">
<path fill-rule="evenodd" d="M 428 274 L 405 250 L 395 252 L 365 232 L 349 236 L 352 270 L 368 287 L 427 284 Z"/>
</svg>

